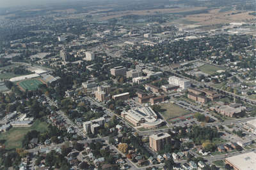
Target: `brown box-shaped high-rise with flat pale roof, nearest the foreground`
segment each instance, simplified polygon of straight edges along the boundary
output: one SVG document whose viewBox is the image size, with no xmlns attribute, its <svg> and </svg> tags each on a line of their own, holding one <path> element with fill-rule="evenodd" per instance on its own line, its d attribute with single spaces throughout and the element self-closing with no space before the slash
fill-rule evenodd
<svg viewBox="0 0 256 170">
<path fill-rule="evenodd" d="M 170 142 L 170 139 L 171 136 L 168 133 L 153 134 L 149 136 L 149 146 L 159 152 L 164 149 L 164 145 Z"/>
</svg>

